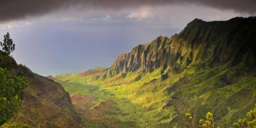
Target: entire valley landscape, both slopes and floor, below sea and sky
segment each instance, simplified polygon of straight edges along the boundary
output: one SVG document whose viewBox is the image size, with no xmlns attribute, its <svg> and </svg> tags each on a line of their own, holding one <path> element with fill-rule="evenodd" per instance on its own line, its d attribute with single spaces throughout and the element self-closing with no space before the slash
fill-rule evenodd
<svg viewBox="0 0 256 128">
<path fill-rule="evenodd" d="M 255 35 L 256 17 L 194 19 L 179 34 L 119 53 L 110 67 L 47 77 L 0 50 L 0 128 L 255 126 Z"/>
</svg>

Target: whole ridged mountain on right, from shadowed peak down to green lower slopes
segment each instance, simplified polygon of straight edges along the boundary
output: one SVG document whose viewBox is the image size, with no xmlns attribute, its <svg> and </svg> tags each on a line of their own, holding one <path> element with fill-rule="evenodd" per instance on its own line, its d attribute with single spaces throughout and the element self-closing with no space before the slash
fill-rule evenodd
<svg viewBox="0 0 256 128">
<path fill-rule="evenodd" d="M 203 118 L 211 111 L 215 124 L 226 128 L 256 103 L 255 68 L 256 17 L 195 19 L 179 34 L 120 53 L 111 67 L 94 69 L 86 81 L 108 87 L 136 83 L 124 89 L 133 103 L 177 113 L 158 127 L 178 125 L 186 112 Z"/>
</svg>

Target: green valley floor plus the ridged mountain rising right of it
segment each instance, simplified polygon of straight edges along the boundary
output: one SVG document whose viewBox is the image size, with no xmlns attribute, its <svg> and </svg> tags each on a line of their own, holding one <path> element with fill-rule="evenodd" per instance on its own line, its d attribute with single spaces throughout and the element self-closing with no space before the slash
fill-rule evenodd
<svg viewBox="0 0 256 128">
<path fill-rule="evenodd" d="M 228 128 L 256 103 L 255 35 L 255 17 L 195 19 L 179 34 L 120 53 L 109 68 L 52 79 L 76 94 L 72 102 L 92 127 L 183 128 L 187 112 L 203 119 L 211 111 L 215 126 Z"/>
</svg>

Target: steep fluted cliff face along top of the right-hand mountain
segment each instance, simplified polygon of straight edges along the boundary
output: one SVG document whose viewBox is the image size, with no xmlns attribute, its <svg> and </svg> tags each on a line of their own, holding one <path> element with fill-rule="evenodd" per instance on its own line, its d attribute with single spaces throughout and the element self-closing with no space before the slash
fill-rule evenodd
<svg viewBox="0 0 256 128">
<path fill-rule="evenodd" d="M 207 61 L 213 67 L 229 61 L 231 66 L 247 61 L 254 67 L 255 29 L 255 17 L 213 22 L 195 19 L 179 34 L 170 38 L 160 36 L 149 44 L 134 47 L 130 53 L 119 53 L 111 67 L 97 73 L 90 81 L 105 80 L 120 73 L 125 76 L 127 72 L 152 72 L 158 68 L 162 74 L 173 68 L 179 73 L 192 62 Z"/>
</svg>

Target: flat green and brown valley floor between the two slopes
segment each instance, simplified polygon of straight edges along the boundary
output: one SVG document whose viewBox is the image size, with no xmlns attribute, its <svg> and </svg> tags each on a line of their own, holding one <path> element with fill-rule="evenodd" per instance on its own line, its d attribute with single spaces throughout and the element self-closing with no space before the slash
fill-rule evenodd
<svg viewBox="0 0 256 128">
<path fill-rule="evenodd" d="M 88 127 L 143 128 L 150 126 L 145 118 L 145 108 L 128 100 L 126 91 L 90 85 L 79 74 L 55 75 L 51 78 L 69 92 L 73 104 L 81 112 Z M 117 86 L 116 86 L 117 87 Z M 115 88 L 116 88 L 115 87 Z M 127 87 L 125 87 L 127 88 Z"/>
</svg>

